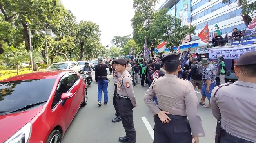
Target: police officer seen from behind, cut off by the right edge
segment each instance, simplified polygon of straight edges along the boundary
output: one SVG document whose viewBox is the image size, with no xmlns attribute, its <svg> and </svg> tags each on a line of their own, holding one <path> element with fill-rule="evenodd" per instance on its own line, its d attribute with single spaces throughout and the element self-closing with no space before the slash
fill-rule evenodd
<svg viewBox="0 0 256 143">
<path fill-rule="evenodd" d="M 256 51 L 241 55 L 234 69 L 238 81 L 215 87 L 211 95 L 220 143 L 256 143 Z"/>
</svg>

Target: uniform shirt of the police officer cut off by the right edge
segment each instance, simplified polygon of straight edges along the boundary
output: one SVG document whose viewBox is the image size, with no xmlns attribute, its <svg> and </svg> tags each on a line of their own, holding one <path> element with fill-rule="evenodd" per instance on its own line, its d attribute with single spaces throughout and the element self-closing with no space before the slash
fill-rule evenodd
<svg viewBox="0 0 256 143">
<path fill-rule="evenodd" d="M 226 83 L 228 84 L 228 83 Z M 213 116 L 229 134 L 256 142 L 256 84 L 236 81 L 211 95 Z"/>
</svg>

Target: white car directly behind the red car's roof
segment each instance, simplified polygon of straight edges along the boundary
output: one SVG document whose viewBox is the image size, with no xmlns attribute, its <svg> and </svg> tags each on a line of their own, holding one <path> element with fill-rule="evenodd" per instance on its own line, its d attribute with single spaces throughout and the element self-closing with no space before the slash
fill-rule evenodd
<svg viewBox="0 0 256 143">
<path fill-rule="evenodd" d="M 79 74 L 79 66 L 77 62 L 58 62 L 53 63 L 47 70 L 73 70 Z"/>
</svg>

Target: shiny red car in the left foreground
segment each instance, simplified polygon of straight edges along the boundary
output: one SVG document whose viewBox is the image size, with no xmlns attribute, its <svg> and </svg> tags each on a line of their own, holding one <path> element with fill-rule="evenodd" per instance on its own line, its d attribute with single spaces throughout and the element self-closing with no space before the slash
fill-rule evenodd
<svg viewBox="0 0 256 143">
<path fill-rule="evenodd" d="M 61 143 L 87 88 L 74 71 L 44 71 L 0 81 L 0 143 Z"/>
</svg>

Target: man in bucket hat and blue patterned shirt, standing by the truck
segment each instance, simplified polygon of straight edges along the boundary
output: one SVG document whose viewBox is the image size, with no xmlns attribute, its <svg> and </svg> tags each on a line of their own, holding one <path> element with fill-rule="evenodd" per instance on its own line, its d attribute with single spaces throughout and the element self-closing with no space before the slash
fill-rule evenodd
<svg viewBox="0 0 256 143">
<path fill-rule="evenodd" d="M 210 61 L 207 58 L 203 58 L 201 63 L 204 67 L 203 73 L 202 73 L 202 82 L 203 82 L 202 96 L 204 97 L 206 96 L 207 99 L 210 101 L 212 90 L 216 84 L 216 80 L 215 80 L 216 68 L 213 64 L 209 64 Z M 201 100 L 201 102 L 203 101 Z M 211 108 L 211 104 L 209 102 L 208 105 L 202 105 L 202 107 Z"/>
</svg>

